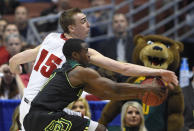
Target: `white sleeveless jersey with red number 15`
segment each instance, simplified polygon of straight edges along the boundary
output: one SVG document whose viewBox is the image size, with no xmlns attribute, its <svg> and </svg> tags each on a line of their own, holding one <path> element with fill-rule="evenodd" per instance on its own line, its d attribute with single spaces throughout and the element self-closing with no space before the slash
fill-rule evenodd
<svg viewBox="0 0 194 131">
<path fill-rule="evenodd" d="M 53 70 L 66 61 L 62 48 L 67 39 L 61 33 L 50 33 L 42 42 L 24 97 L 32 101 L 46 83 Z"/>
</svg>

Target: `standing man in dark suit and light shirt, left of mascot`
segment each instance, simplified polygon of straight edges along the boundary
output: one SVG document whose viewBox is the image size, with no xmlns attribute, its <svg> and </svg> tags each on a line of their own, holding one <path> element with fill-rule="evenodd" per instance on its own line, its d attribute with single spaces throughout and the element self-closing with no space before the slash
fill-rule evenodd
<svg viewBox="0 0 194 131">
<path fill-rule="evenodd" d="M 134 45 L 133 37 L 127 31 L 128 26 L 128 20 L 124 14 L 114 14 L 112 20 L 114 36 L 100 43 L 102 54 L 114 60 L 132 63 Z"/>
</svg>

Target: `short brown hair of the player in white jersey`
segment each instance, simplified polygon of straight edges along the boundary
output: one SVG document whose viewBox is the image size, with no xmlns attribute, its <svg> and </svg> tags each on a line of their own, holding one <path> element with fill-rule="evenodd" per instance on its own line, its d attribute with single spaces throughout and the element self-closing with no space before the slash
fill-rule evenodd
<svg viewBox="0 0 194 131">
<path fill-rule="evenodd" d="M 75 24 L 73 15 L 77 13 L 82 13 L 82 11 L 79 8 L 72 8 L 72 9 L 63 11 L 63 13 L 61 14 L 59 22 L 60 22 L 61 28 L 65 33 L 69 33 L 69 29 L 68 29 L 69 25 Z"/>
</svg>

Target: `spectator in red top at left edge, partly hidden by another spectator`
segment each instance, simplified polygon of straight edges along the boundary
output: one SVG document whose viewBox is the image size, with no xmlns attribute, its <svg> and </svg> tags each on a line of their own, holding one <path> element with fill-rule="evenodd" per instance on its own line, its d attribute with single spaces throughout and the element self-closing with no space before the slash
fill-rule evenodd
<svg viewBox="0 0 194 131">
<path fill-rule="evenodd" d="M 5 27 L 5 31 L 3 33 L 3 44 L 1 46 L 1 50 L 0 50 L 0 65 L 7 63 L 9 58 L 10 58 L 10 54 L 6 49 L 6 38 L 10 35 L 10 34 L 18 34 L 19 35 L 19 30 L 17 28 L 17 26 L 15 24 L 7 24 L 7 26 Z"/>
</svg>

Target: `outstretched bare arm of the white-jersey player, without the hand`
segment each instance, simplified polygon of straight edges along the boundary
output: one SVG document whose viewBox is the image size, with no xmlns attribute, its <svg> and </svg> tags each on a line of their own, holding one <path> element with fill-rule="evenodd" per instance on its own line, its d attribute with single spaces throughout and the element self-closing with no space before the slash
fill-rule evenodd
<svg viewBox="0 0 194 131">
<path fill-rule="evenodd" d="M 90 62 L 99 67 L 114 71 L 125 76 L 160 76 L 160 69 L 152 69 L 130 63 L 115 61 L 101 55 L 99 52 L 90 49 Z"/>
</svg>

